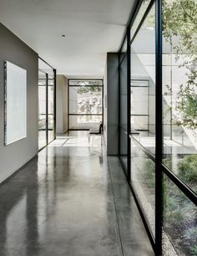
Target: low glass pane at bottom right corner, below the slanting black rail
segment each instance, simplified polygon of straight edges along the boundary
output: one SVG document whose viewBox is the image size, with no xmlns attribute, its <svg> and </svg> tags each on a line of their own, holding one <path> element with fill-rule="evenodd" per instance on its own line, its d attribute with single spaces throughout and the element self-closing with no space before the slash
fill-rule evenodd
<svg viewBox="0 0 197 256">
<path fill-rule="evenodd" d="M 197 255 L 197 207 L 164 175 L 164 255 Z"/>
</svg>

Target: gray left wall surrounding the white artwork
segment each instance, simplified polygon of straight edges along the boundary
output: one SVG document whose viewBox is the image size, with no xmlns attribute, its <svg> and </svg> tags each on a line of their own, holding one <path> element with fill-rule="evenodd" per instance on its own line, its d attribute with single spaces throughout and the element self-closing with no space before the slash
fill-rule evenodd
<svg viewBox="0 0 197 256">
<path fill-rule="evenodd" d="M 4 146 L 4 60 L 27 70 L 27 138 Z M 0 182 L 38 152 L 38 54 L 0 23 Z"/>
</svg>

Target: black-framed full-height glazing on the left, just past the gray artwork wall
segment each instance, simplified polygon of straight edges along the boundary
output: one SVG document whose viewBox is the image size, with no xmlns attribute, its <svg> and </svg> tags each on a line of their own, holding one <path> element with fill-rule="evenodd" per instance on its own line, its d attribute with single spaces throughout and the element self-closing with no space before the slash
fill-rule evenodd
<svg viewBox="0 0 197 256">
<path fill-rule="evenodd" d="M 55 70 L 39 59 L 38 70 L 38 149 L 55 138 Z"/>
</svg>

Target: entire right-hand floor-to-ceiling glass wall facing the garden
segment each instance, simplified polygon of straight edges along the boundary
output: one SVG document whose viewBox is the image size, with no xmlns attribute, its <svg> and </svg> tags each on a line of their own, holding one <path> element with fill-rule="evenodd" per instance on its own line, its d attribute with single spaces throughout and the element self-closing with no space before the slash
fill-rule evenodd
<svg viewBox="0 0 197 256">
<path fill-rule="evenodd" d="M 119 52 L 119 157 L 157 256 L 197 255 L 196 13 L 139 1 Z"/>
</svg>

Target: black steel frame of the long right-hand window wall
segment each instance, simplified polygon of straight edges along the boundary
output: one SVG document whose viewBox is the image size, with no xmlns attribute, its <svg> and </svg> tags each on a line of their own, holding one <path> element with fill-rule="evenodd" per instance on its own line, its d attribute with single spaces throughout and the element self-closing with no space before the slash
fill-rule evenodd
<svg viewBox="0 0 197 256">
<path fill-rule="evenodd" d="M 120 65 L 122 64 L 124 58 L 127 56 L 127 67 L 128 67 L 128 74 L 127 74 L 127 126 L 124 129 L 125 134 L 127 135 L 128 140 L 128 155 L 127 161 L 128 165 L 127 168 L 124 165 L 124 162 L 121 161 L 120 157 L 120 131 L 123 130 L 123 127 L 120 125 L 120 106 L 119 106 L 119 159 L 122 163 L 124 168 L 124 173 L 129 183 L 129 187 L 131 192 L 134 195 L 135 202 L 139 209 L 140 216 L 144 223 L 144 228 L 149 236 L 150 243 L 154 248 L 155 255 L 159 256 L 162 255 L 162 229 L 163 229 L 163 209 L 164 209 L 164 202 L 163 202 L 163 174 L 169 177 L 170 181 L 174 182 L 174 184 L 179 187 L 180 191 L 184 193 L 186 197 L 189 198 L 194 205 L 197 206 L 197 194 L 187 186 L 183 181 L 179 179 L 173 172 L 169 170 L 167 166 L 164 165 L 162 162 L 163 156 L 163 120 L 162 120 L 162 54 L 163 54 L 163 45 L 162 45 L 162 0 L 152 0 L 149 3 L 148 8 L 146 9 L 143 18 L 141 19 L 138 28 L 135 30 L 134 35 L 130 38 L 130 29 L 134 23 L 135 18 L 139 13 L 139 8 L 141 7 L 144 0 L 140 0 L 136 3 L 134 7 L 134 11 L 131 13 L 129 18 L 129 23 L 127 25 L 126 31 L 124 33 L 124 38 L 122 44 L 119 48 L 119 102 L 120 102 Z M 139 141 L 137 141 L 131 133 L 130 127 L 130 68 L 131 68 L 131 60 L 130 60 L 130 47 L 132 42 L 134 41 L 135 36 L 139 32 L 139 28 L 144 23 L 144 19 L 147 17 L 150 8 L 153 7 L 155 3 L 155 120 L 156 120 L 156 127 L 155 127 L 155 156 L 151 154 L 144 146 L 142 146 Z M 125 40 L 127 40 L 127 49 L 125 53 L 122 53 L 122 49 L 124 48 Z M 132 172 L 132 166 L 130 164 L 130 141 L 134 141 L 135 146 L 138 146 L 142 151 L 144 151 L 145 155 L 149 157 L 155 163 L 155 238 L 149 227 L 149 222 L 145 216 L 142 202 L 139 202 L 139 198 L 134 192 L 134 187 L 132 186 L 130 180 L 130 173 Z"/>
</svg>

